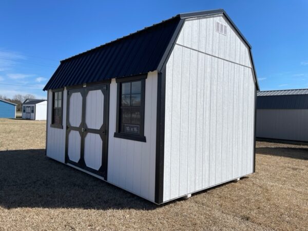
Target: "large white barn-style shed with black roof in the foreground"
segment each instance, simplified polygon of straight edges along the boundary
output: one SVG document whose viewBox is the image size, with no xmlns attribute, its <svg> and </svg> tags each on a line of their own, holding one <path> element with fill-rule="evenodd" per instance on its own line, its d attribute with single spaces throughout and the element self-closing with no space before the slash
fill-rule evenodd
<svg viewBox="0 0 308 231">
<path fill-rule="evenodd" d="M 224 10 L 72 56 L 44 90 L 46 155 L 151 202 L 255 171 L 251 46 Z"/>
</svg>

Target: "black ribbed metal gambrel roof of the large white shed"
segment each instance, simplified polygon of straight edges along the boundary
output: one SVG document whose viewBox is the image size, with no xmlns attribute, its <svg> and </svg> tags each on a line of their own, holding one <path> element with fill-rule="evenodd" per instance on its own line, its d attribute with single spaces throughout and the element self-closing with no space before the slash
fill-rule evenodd
<svg viewBox="0 0 308 231">
<path fill-rule="evenodd" d="M 224 14 L 251 52 L 251 46 L 223 9 L 178 14 L 159 24 L 61 61 L 43 90 L 161 71 L 185 18 L 212 14 Z M 259 89 L 253 58 L 252 65 L 256 87 Z"/>
</svg>

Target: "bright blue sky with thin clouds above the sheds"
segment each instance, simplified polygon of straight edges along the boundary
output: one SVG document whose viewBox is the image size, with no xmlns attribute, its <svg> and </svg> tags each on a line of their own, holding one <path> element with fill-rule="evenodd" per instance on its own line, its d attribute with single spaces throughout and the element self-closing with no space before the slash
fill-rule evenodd
<svg viewBox="0 0 308 231">
<path fill-rule="evenodd" d="M 308 88 L 305 0 L 2 0 L 0 94 L 46 98 L 42 88 L 60 60 L 178 13 L 218 8 L 226 10 L 253 46 L 261 90 Z"/>
</svg>

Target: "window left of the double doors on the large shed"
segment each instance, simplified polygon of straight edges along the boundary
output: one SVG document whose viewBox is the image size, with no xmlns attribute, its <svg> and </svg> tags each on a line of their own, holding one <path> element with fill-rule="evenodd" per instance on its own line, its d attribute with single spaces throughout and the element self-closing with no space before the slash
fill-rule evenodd
<svg viewBox="0 0 308 231">
<path fill-rule="evenodd" d="M 52 123 L 51 127 L 62 127 L 62 93 L 63 91 L 52 92 Z"/>
</svg>

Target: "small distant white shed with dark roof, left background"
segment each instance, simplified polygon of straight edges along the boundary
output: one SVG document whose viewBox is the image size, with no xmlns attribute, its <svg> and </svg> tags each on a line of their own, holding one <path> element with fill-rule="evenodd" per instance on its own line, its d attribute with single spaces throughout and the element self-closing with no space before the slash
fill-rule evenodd
<svg viewBox="0 0 308 231">
<path fill-rule="evenodd" d="M 27 120 L 46 120 L 47 100 L 25 100 L 23 103 L 22 118 Z"/>
</svg>

